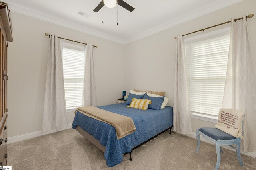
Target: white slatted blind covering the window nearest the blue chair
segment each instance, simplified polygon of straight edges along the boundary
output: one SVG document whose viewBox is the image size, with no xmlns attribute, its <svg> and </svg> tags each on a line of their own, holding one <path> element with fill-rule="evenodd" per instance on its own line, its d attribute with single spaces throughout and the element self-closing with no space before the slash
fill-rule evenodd
<svg viewBox="0 0 256 170">
<path fill-rule="evenodd" d="M 217 116 L 222 107 L 230 32 L 186 43 L 190 112 Z"/>
</svg>

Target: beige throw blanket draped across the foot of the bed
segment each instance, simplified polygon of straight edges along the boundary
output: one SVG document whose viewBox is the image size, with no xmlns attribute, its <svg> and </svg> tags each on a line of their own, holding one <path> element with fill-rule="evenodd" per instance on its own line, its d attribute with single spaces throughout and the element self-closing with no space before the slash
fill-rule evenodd
<svg viewBox="0 0 256 170">
<path fill-rule="evenodd" d="M 112 113 L 110 111 L 99 109 L 94 106 L 78 107 L 76 111 L 79 111 L 88 117 L 102 121 L 104 123 L 108 123 L 109 125 L 113 126 L 116 129 L 117 139 L 121 139 L 126 135 L 136 131 L 136 127 L 130 117 Z"/>
</svg>

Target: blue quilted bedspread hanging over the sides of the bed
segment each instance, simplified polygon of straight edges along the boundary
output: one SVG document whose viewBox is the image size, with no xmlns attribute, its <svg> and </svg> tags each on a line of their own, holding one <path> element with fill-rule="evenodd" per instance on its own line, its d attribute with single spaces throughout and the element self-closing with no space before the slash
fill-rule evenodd
<svg viewBox="0 0 256 170">
<path fill-rule="evenodd" d="M 101 145 L 106 146 L 104 158 L 108 166 L 112 167 L 123 160 L 123 154 L 130 152 L 133 147 L 147 141 L 158 133 L 173 125 L 172 107 L 166 106 L 164 109 L 146 111 L 134 108 L 126 108 L 125 103 L 98 106 L 100 109 L 128 116 L 134 121 L 136 131 L 119 140 L 116 138 L 116 130 L 107 123 L 90 118 L 80 112 L 76 113 L 73 121 L 73 129 L 81 127 L 96 139 Z"/>
</svg>

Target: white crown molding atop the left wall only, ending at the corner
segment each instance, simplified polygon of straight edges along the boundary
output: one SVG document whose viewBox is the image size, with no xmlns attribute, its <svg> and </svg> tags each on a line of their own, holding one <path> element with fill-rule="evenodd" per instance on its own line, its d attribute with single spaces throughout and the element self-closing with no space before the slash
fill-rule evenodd
<svg viewBox="0 0 256 170">
<path fill-rule="evenodd" d="M 38 11 L 38 10 L 34 10 L 32 8 L 28 8 L 26 6 L 22 6 L 20 4 L 14 3 L 10 0 L 4 0 L 4 2 L 6 2 L 8 4 L 8 8 L 12 11 L 12 12 L 16 12 L 19 14 L 23 14 L 26 16 L 30 16 L 32 18 L 36 18 L 39 20 L 43 20 L 43 21 L 47 21 L 50 23 L 54 23 L 56 25 L 60 25 L 63 27 L 67 27 L 70 29 L 74 29 L 76 31 L 80 31 L 82 33 L 87 33 L 89 35 L 94 35 L 96 37 L 100 37 L 103 39 L 107 39 L 110 41 L 114 41 L 116 43 L 120 43 L 120 44 L 124 44 L 124 40 L 119 38 L 119 37 L 115 37 L 94 29 L 91 29 L 89 27 L 85 27 L 84 25 L 78 24 L 78 23 L 74 23 L 68 20 L 64 20 L 62 18 L 58 18 L 56 16 L 52 16 L 50 14 Z"/>
</svg>

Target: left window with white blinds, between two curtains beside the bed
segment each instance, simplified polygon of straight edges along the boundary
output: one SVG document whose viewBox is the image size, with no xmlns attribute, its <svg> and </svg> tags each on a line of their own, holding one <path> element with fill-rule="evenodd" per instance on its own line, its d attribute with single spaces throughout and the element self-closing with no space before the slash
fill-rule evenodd
<svg viewBox="0 0 256 170">
<path fill-rule="evenodd" d="M 84 62 L 83 46 L 64 43 L 63 74 L 67 110 L 82 106 Z"/>
</svg>

